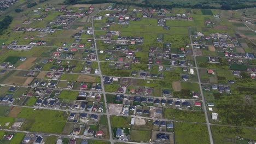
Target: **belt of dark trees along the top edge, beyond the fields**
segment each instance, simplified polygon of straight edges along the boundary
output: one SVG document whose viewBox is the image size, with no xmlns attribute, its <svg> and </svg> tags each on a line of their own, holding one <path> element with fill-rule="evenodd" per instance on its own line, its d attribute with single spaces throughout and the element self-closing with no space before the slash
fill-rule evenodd
<svg viewBox="0 0 256 144">
<path fill-rule="evenodd" d="M 116 4 L 126 4 L 126 5 L 137 5 L 138 7 L 151 7 L 151 8 L 192 8 L 192 9 L 244 9 L 244 8 L 254 8 L 256 4 L 246 5 L 242 2 L 212 2 L 212 3 L 220 3 L 221 7 L 214 7 L 208 5 L 208 3 L 197 3 L 195 5 L 191 5 L 190 3 L 172 3 L 172 4 L 152 4 L 149 1 L 145 0 L 142 3 L 133 3 L 133 2 L 118 2 L 115 0 L 91 0 L 91 1 L 80 1 L 80 0 L 66 0 L 65 4 L 96 4 L 96 3 L 116 3 Z"/>
</svg>

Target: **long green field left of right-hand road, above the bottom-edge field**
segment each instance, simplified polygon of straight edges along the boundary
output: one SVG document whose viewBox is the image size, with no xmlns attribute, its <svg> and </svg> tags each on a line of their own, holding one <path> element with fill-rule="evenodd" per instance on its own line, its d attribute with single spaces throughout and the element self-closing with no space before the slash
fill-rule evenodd
<svg viewBox="0 0 256 144">
<path fill-rule="evenodd" d="M 205 122 L 205 113 L 202 111 L 165 109 L 164 117 L 178 121 Z"/>
</svg>

